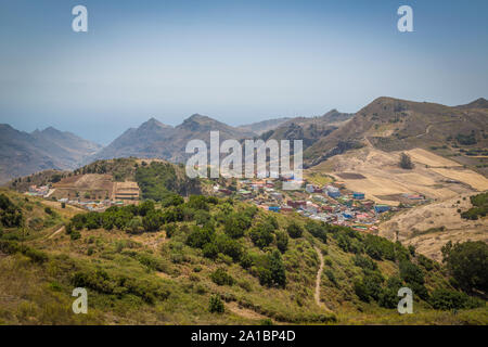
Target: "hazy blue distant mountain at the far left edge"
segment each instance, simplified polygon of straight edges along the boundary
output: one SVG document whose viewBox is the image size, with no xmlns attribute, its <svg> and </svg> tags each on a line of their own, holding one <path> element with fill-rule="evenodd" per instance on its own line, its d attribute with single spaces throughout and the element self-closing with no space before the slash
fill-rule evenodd
<svg viewBox="0 0 488 347">
<path fill-rule="evenodd" d="M 46 169 L 74 169 L 100 147 L 54 128 L 28 133 L 0 125 L 0 184 Z"/>
</svg>

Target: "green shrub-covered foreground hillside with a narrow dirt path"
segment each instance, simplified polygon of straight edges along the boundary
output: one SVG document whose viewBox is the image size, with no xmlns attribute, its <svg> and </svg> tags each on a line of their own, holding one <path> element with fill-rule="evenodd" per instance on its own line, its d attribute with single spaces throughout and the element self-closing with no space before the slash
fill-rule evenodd
<svg viewBox="0 0 488 347">
<path fill-rule="evenodd" d="M 347 228 L 205 196 L 76 215 L 0 194 L 2 216 L 21 216 L 1 219 L 2 323 L 488 322 L 486 301 L 454 290 L 439 264 Z M 396 310 L 402 285 L 415 293 L 415 314 Z M 77 316 L 70 295 L 80 286 L 89 311 Z"/>
</svg>

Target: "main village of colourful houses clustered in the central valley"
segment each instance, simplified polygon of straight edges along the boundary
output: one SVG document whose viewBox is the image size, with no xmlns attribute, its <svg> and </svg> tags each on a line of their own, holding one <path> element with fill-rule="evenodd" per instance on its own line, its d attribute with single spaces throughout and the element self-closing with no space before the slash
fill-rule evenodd
<svg viewBox="0 0 488 347">
<path fill-rule="evenodd" d="M 363 192 L 346 189 L 345 183 L 341 181 L 319 187 L 307 180 L 295 180 L 299 187 L 297 190 L 282 190 L 283 181 L 291 180 L 293 177 L 284 180 L 239 180 L 235 192 L 220 185 L 215 185 L 214 191 L 221 195 L 233 195 L 266 210 L 298 213 L 311 219 L 371 232 L 377 231 L 377 224 L 385 214 L 426 203 L 423 195 L 402 194 L 404 204 L 398 206 L 377 204 L 367 200 Z"/>
</svg>

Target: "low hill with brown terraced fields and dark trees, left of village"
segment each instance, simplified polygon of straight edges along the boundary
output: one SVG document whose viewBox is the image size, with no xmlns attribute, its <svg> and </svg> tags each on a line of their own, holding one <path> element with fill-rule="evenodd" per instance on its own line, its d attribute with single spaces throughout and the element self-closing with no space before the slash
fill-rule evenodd
<svg viewBox="0 0 488 347">
<path fill-rule="evenodd" d="M 115 200 L 117 184 L 125 182 L 137 183 L 142 198 L 155 201 L 208 190 L 204 181 L 188 178 L 181 165 L 134 157 L 97 160 L 73 171 L 44 170 L 12 180 L 7 187 L 24 193 L 30 185 L 50 184 L 51 197 L 89 201 Z"/>
</svg>

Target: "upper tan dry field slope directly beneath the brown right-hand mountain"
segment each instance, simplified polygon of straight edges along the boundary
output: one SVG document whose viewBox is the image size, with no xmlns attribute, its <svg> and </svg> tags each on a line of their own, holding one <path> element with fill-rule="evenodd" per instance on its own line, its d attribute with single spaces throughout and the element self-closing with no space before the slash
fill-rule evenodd
<svg viewBox="0 0 488 347">
<path fill-rule="evenodd" d="M 421 149 L 408 151 L 415 167 L 412 170 L 403 170 L 398 167 L 400 153 L 367 146 L 334 156 L 307 172 L 331 175 L 346 182 L 348 189 L 364 192 L 367 198 L 390 205 L 398 205 L 399 201 L 394 195 L 402 193 L 446 200 L 463 193 L 488 190 L 488 180 L 481 175 Z M 360 174 L 364 178 L 341 177 L 344 172 Z M 461 183 L 449 180 L 458 180 Z"/>
</svg>

